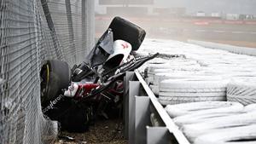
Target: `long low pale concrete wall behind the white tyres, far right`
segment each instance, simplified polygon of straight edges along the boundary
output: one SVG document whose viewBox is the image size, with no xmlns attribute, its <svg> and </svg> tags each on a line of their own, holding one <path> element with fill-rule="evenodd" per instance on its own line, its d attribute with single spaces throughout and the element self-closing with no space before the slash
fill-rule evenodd
<svg viewBox="0 0 256 144">
<path fill-rule="evenodd" d="M 188 43 L 201 45 L 203 47 L 211 48 L 211 49 L 223 49 L 223 50 L 227 50 L 232 53 L 241 54 L 241 55 L 256 56 L 256 48 L 253 49 L 253 48 L 247 48 L 247 47 L 238 47 L 238 46 L 233 46 L 233 45 L 229 45 L 229 44 L 204 42 L 204 41 L 197 41 L 197 40 L 192 40 L 192 39 L 189 39 Z"/>
</svg>

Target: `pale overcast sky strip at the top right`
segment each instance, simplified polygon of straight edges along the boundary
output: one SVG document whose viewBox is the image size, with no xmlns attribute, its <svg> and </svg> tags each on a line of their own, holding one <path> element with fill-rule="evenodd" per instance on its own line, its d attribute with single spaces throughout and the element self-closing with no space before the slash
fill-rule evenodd
<svg viewBox="0 0 256 144">
<path fill-rule="evenodd" d="M 185 7 L 188 13 L 256 14 L 256 0 L 154 0 L 154 3 L 163 7 Z"/>
</svg>

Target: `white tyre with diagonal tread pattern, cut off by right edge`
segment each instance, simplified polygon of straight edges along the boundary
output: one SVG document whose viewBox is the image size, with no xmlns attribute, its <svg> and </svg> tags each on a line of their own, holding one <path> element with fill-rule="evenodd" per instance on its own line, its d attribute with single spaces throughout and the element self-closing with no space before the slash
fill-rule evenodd
<svg viewBox="0 0 256 144">
<path fill-rule="evenodd" d="M 232 81 L 227 86 L 227 100 L 243 105 L 256 103 L 256 82 Z"/>
</svg>

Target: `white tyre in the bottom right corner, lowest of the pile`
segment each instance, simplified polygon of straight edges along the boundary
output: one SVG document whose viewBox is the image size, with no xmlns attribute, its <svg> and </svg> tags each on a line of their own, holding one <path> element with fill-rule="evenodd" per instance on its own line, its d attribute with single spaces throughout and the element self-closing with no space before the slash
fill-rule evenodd
<svg viewBox="0 0 256 144">
<path fill-rule="evenodd" d="M 194 144 L 255 144 L 256 125 L 214 130 L 195 138 Z"/>
</svg>

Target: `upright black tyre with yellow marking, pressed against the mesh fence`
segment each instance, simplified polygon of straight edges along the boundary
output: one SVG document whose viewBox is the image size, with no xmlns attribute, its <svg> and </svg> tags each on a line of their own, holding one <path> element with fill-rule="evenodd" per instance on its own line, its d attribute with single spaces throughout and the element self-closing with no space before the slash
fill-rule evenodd
<svg viewBox="0 0 256 144">
<path fill-rule="evenodd" d="M 71 71 L 67 62 L 61 60 L 46 60 L 40 72 L 41 102 L 53 100 L 60 95 L 62 89 L 70 84 Z"/>
</svg>

